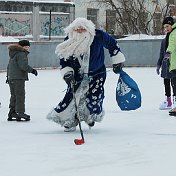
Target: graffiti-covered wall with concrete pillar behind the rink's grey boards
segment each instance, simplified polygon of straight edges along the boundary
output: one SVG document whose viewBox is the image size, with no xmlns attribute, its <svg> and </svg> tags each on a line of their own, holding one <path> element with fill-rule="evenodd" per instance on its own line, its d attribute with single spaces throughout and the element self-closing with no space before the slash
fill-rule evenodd
<svg viewBox="0 0 176 176">
<path fill-rule="evenodd" d="M 75 18 L 74 8 L 71 2 L 0 1 L 0 35 L 30 36 L 34 40 L 63 36 L 63 29 Z"/>
</svg>

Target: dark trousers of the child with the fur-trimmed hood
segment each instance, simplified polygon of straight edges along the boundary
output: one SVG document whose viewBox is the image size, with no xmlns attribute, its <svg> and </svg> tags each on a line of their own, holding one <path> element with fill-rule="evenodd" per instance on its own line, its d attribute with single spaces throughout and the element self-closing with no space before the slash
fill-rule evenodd
<svg viewBox="0 0 176 176">
<path fill-rule="evenodd" d="M 25 80 L 10 80 L 10 104 L 9 108 L 16 112 L 25 112 Z"/>
</svg>

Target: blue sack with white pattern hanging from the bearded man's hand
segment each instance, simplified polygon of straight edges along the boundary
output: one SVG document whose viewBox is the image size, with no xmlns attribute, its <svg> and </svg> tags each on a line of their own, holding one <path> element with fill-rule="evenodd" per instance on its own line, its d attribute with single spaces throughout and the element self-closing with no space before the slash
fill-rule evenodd
<svg viewBox="0 0 176 176">
<path fill-rule="evenodd" d="M 116 101 L 123 111 L 136 110 L 141 107 L 141 93 L 138 85 L 123 70 L 117 82 Z"/>
</svg>

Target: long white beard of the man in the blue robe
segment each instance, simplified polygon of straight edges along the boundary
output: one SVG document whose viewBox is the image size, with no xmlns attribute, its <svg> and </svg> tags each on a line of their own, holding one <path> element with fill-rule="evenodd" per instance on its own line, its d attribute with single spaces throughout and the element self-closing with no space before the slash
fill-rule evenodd
<svg viewBox="0 0 176 176">
<path fill-rule="evenodd" d="M 73 31 L 70 33 L 68 40 L 57 45 L 55 53 L 65 60 L 68 59 L 69 56 L 78 58 L 89 51 L 93 39 L 94 35 L 88 31 L 83 33 Z"/>
</svg>

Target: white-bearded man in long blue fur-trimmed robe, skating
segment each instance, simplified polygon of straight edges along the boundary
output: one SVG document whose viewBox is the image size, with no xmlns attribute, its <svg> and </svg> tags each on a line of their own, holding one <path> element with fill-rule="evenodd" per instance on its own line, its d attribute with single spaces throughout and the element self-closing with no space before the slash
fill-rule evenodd
<svg viewBox="0 0 176 176">
<path fill-rule="evenodd" d="M 104 48 L 109 51 L 115 73 L 120 72 L 125 57 L 117 41 L 108 33 L 95 29 L 90 20 L 77 18 L 65 32 L 68 38 L 56 47 L 56 54 L 68 88 L 63 100 L 49 112 L 47 119 L 64 126 L 65 131 L 74 131 L 78 118 L 92 127 L 104 117 Z"/>
</svg>

